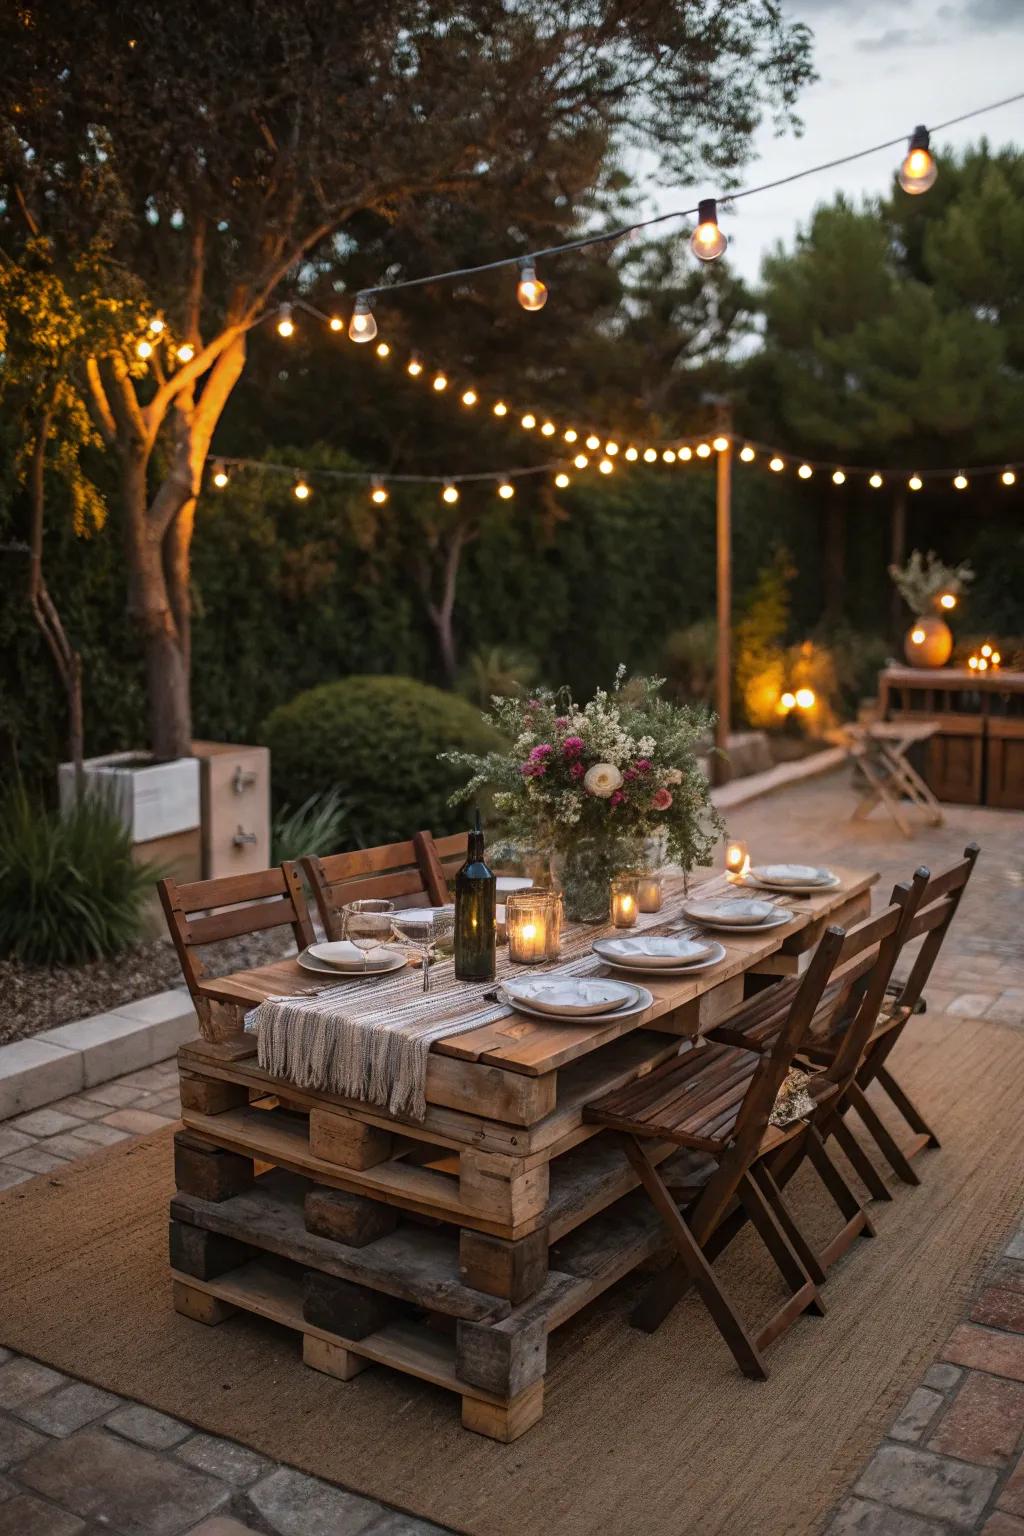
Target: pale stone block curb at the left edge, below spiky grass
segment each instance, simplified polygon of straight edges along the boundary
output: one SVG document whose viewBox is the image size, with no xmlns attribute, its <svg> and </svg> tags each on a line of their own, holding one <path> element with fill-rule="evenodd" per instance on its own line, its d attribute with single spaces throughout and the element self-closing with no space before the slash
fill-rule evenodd
<svg viewBox="0 0 1024 1536">
<path fill-rule="evenodd" d="M 0 1046 L 0 1120 L 166 1061 L 198 1029 L 184 988 Z"/>
</svg>

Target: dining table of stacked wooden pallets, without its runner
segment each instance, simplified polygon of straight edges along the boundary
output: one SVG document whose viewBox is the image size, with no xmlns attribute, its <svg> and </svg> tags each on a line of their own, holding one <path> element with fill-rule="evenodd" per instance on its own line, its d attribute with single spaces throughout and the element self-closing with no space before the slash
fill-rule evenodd
<svg viewBox="0 0 1024 1536">
<path fill-rule="evenodd" d="M 204 980 L 204 1037 L 178 1054 L 175 1307 L 207 1324 L 235 1310 L 272 1318 L 318 1370 L 348 1379 L 390 1366 L 456 1392 L 467 1428 L 522 1435 L 543 1409 L 548 1333 L 665 1241 L 616 1138 L 583 1106 L 688 1049 L 752 991 L 800 975 L 829 923 L 866 915 L 877 874 L 835 872 L 838 886 L 788 899 L 788 923 L 718 935 L 711 969 L 645 975 L 652 1003 L 640 1014 L 548 1023 L 508 1009 L 434 1041 L 422 1120 L 258 1066 L 244 1017 L 316 985 L 296 960 Z M 697 888 L 717 892 L 725 877 L 703 871 Z M 669 886 L 665 926 L 679 897 Z M 672 1160 L 677 1183 L 699 1177 L 689 1152 L 654 1157 Z"/>
</svg>

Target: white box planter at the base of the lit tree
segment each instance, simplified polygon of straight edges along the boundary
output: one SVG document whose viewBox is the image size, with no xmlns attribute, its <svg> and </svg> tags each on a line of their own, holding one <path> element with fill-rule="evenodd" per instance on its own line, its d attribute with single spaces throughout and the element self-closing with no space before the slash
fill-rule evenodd
<svg viewBox="0 0 1024 1536">
<path fill-rule="evenodd" d="M 60 803 L 66 808 L 75 794 L 75 770 L 61 763 Z M 132 834 L 134 843 L 187 833 L 200 825 L 198 757 L 175 757 L 160 763 L 141 753 L 111 753 L 84 763 L 86 788 L 103 790 Z"/>
</svg>

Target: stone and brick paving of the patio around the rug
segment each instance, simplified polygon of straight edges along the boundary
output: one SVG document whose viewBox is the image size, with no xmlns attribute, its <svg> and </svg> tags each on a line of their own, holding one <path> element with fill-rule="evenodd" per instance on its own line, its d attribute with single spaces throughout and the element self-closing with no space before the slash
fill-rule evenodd
<svg viewBox="0 0 1024 1536">
<path fill-rule="evenodd" d="M 834 774 L 731 813 L 729 829 L 757 857 L 880 868 L 883 889 L 918 863 L 950 862 L 975 839 L 983 856 L 929 1009 L 1024 1028 L 1024 817 L 947 806 L 943 828 L 904 842 L 880 813 L 851 822 L 852 806 L 844 774 Z M 58 1178 L 68 1161 L 177 1115 L 177 1068 L 167 1061 L 3 1121 L 0 1189 L 37 1174 Z M 826 1527 L 826 1536 L 1024 1536 L 1024 1226 Z M 0 1536 L 100 1531 L 442 1536 L 0 1350 Z"/>
</svg>

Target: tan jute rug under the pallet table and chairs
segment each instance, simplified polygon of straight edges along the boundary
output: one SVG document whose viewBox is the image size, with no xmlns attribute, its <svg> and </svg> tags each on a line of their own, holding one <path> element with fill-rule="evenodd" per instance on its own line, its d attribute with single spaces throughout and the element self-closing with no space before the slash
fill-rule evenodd
<svg viewBox="0 0 1024 1536">
<path fill-rule="evenodd" d="M 824 1516 L 963 1310 L 1019 1201 L 1024 1032 L 913 1021 L 898 1071 L 943 1149 L 875 1206 L 824 1290 L 746 1381 L 692 1296 L 652 1336 L 628 1326 L 642 1278 L 551 1339 L 545 1415 L 513 1445 L 461 1428 L 457 1399 L 384 1369 L 306 1369 L 253 1318 L 180 1318 L 167 1281 L 167 1132 L 0 1200 L 0 1342 L 279 1461 L 473 1536 L 804 1536 Z M 809 1227 L 811 1177 L 792 1186 Z M 818 1226 L 820 1230 L 820 1226 Z M 768 1258 L 720 1260 L 757 1316 Z"/>
</svg>

